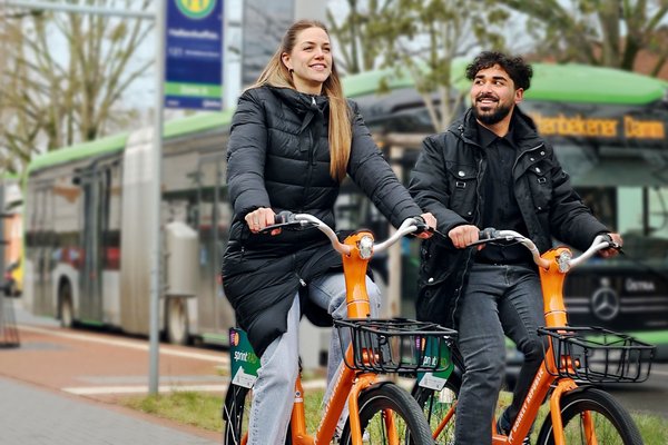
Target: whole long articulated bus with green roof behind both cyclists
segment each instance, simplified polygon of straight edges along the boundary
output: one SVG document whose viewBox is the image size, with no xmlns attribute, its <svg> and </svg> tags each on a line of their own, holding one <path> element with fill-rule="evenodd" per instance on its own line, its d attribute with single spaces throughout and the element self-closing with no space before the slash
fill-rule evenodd
<svg viewBox="0 0 668 445">
<path fill-rule="evenodd" d="M 462 62 L 458 62 L 462 66 Z M 454 70 L 453 70 L 454 71 Z M 463 69 L 461 70 L 463 71 Z M 573 325 L 603 325 L 668 345 L 668 160 L 666 83 L 586 66 L 534 65 L 522 109 L 554 146 L 581 196 L 623 234 L 627 257 L 573 273 L 567 283 Z M 407 180 L 424 136 L 433 132 L 407 78 L 373 71 L 344 79 L 379 146 Z M 461 91 L 465 81 L 454 79 Z M 453 97 L 454 99 L 454 97 Z M 166 122 L 160 220 L 164 295 L 160 327 L 168 340 L 227 344 L 234 314 L 219 266 L 232 209 L 225 147 L 232 112 Z M 24 306 L 61 324 L 105 325 L 147 334 L 150 258 L 145 240 L 151 208 L 151 131 L 120 134 L 35 158 L 24 184 Z M 337 204 L 340 229 L 387 224 L 354 185 Z M 419 244 L 405 243 L 373 265 L 389 313 L 411 316 Z M 307 324 L 303 324 L 307 325 Z M 307 328 L 306 328 L 307 329 Z M 316 328 L 313 328 L 316 329 Z M 317 364 L 326 329 L 303 336 L 305 366 Z"/>
</svg>

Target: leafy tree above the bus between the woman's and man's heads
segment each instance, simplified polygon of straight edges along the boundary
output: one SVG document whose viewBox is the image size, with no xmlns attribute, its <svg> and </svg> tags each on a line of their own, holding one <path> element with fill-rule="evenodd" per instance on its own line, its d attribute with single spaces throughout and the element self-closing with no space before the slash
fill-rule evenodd
<svg viewBox="0 0 668 445">
<path fill-rule="evenodd" d="M 348 6 L 344 24 L 332 28 L 345 47 L 347 67 L 371 69 L 380 60 L 397 76 L 407 72 L 436 131 L 448 127 L 462 99 L 453 89 L 453 59 L 481 47 L 504 47 L 501 26 L 508 11 L 494 1 L 348 0 Z M 360 52 L 363 63 L 357 66 Z"/>
</svg>

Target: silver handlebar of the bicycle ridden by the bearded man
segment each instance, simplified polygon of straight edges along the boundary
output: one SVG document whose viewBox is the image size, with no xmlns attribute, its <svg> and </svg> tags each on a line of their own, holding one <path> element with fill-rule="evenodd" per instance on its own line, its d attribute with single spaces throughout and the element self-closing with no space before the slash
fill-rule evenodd
<svg viewBox="0 0 668 445">
<path fill-rule="evenodd" d="M 479 244 L 487 244 L 487 243 L 492 243 L 492 241 L 517 241 L 517 243 L 520 243 L 522 246 L 524 246 L 529 249 L 529 251 L 531 253 L 531 256 L 533 257 L 533 261 L 538 266 L 540 266 L 544 269 L 548 269 L 550 267 L 550 261 L 540 256 L 540 251 L 538 250 L 538 247 L 536 247 L 536 244 L 533 244 L 533 241 L 531 239 L 527 238 L 522 234 L 519 234 L 514 230 L 497 230 L 494 228 L 483 229 L 479 234 L 479 240 L 475 243 L 471 243 L 469 246 L 475 246 Z M 572 269 L 573 267 L 578 267 L 579 265 L 584 263 L 587 259 L 591 258 L 596 253 L 607 249 L 607 248 L 610 248 L 610 247 L 617 249 L 620 246 L 617 243 L 615 243 L 612 240 L 612 238 L 610 237 L 610 235 L 608 235 L 608 234 L 597 235 L 597 237 L 593 238 L 593 241 L 591 243 L 589 248 L 587 250 L 584 250 L 577 258 L 573 258 L 570 255 L 562 255 L 558 260 L 559 269 L 562 273 L 567 273 L 570 269 Z"/>
</svg>

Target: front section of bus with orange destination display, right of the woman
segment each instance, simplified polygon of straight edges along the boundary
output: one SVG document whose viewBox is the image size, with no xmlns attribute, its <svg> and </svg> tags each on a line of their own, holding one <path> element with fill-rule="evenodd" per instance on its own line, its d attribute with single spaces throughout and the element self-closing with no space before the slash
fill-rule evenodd
<svg viewBox="0 0 668 445">
<path fill-rule="evenodd" d="M 453 85 L 465 93 L 464 62 L 454 65 L 453 72 L 462 77 Z M 625 239 L 626 255 L 591 259 L 567 278 L 570 323 L 632 333 L 658 345 L 659 357 L 668 357 L 668 83 L 582 65 L 534 63 L 533 69 L 520 108 L 554 146 L 595 215 Z M 360 76 L 355 91 L 373 90 L 387 75 Z M 357 101 L 395 170 L 407 180 L 422 139 L 433 129 L 412 82 L 394 78 L 390 86 L 389 95 L 362 95 Z M 468 98 L 460 103 L 465 103 L 463 112 Z M 416 244 L 406 246 L 402 265 L 402 294 L 414 295 Z"/>
</svg>

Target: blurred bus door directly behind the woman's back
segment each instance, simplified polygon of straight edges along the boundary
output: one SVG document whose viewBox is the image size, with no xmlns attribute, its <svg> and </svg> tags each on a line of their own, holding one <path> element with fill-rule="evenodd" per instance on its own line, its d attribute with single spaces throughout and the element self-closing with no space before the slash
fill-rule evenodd
<svg viewBox="0 0 668 445">
<path fill-rule="evenodd" d="M 234 315 L 220 280 L 220 260 L 230 221 L 225 155 L 202 157 L 197 170 L 199 276 L 203 284 L 197 299 L 199 330 L 208 342 L 226 343 L 227 329 L 234 326 Z"/>
</svg>

